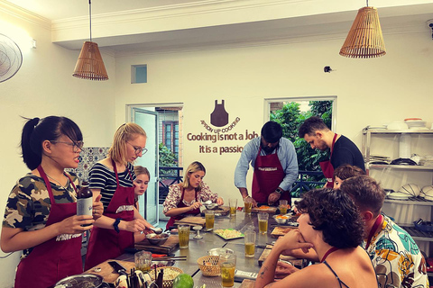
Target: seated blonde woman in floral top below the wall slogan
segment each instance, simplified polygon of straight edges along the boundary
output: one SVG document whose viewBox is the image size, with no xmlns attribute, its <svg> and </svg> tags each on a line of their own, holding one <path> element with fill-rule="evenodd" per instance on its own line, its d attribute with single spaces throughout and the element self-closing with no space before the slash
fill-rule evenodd
<svg viewBox="0 0 433 288">
<path fill-rule="evenodd" d="M 170 217 L 167 229 L 186 215 L 198 215 L 201 202 L 210 200 L 218 205 L 224 204 L 223 198 L 212 193 L 203 182 L 205 175 L 205 166 L 198 161 L 192 162 L 185 171 L 184 182 L 170 186 L 169 194 L 163 203 L 164 215 Z"/>
</svg>

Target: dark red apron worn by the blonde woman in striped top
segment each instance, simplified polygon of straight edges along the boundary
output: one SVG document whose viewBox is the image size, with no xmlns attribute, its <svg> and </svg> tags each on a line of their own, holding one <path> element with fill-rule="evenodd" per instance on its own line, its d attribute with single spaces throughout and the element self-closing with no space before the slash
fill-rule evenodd
<svg viewBox="0 0 433 288">
<path fill-rule="evenodd" d="M 132 221 L 134 220 L 134 186 L 120 186 L 114 161 L 113 169 L 115 170 L 117 188 L 103 215 L 112 219 L 121 218 L 124 221 Z M 131 181 L 133 181 L 133 176 L 129 170 L 128 173 Z M 121 256 L 126 247 L 134 247 L 133 232 L 121 230 L 117 233 L 115 229 L 104 229 L 93 226 L 90 239 L 88 240 L 88 253 L 84 269 L 88 270 L 108 259 Z"/>
</svg>

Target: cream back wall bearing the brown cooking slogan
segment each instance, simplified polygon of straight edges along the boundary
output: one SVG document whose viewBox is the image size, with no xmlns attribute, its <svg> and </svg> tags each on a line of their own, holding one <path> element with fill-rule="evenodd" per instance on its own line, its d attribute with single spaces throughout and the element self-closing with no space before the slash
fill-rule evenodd
<svg viewBox="0 0 433 288">
<path fill-rule="evenodd" d="M 233 184 L 239 155 L 200 154 L 198 145 L 227 142 L 186 139 L 189 132 L 206 132 L 200 121 L 209 122 L 215 99 L 226 100 L 230 121 L 236 116 L 241 119 L 232 132 L 260 132 L 266 98 L 326 95 L 337 97 L 336 132 L 354 139 L 359 147 L 367 125 L 420 117 L 429 127 L 433 121 L 430 33 L 385 34 L 388 54 L 373 59 L 339 56 L 343 41 L 116 58 L 116 123 L 124 121 L 124 105 L 128 103 L 184 103 L 184 163 L 201 161 L 207 167 L 205 181 L 226 199 L 239 195 Z M 138 64 L 148 65 L 149 83 L 131 85 L 130 66 Z M 324 73 L 325 66 L 335 71 Z"/>
</svg>

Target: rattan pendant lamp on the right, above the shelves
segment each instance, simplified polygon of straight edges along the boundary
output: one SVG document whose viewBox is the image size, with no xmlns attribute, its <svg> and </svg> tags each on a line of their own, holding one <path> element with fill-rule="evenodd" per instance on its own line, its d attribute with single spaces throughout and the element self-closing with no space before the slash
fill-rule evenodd
<svg viewBox="0 0 433 288">
<path fill-rule="evenodd" d="M 340 55 L 349 58 L 374 58 L 386 54 L 377 9 L 367 6 L 358 10 Z"/>
</svg>

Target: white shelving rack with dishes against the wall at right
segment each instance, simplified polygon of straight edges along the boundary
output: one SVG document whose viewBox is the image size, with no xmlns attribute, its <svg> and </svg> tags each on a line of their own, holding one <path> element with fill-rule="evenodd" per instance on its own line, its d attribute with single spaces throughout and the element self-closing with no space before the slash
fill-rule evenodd
<svg viewBox="0 0 433 288">
<path fill-rule="evenodd" d="M 382 184 L 384 189 L 398 191 L 403 184 L 418 184 L 419 188 L 433 184 L 433 166 L 405 166 L 373 164 L 372 155 L 395 159 L 399 157 L 401 135 L 410 135 L 411 153 L 433 155 L 433 130 L 363 130 L 363 155 L 368 174 Z M 372 152 L 373 151 L 373 152 Z M 419 248 L 433 256 L 433 232 L 419 231 L 413 221 L 431 220 L 433 202 L 419 197 L 409 200 L 386 199 L 382 211 L 394 218 L 417 241 Z"/>
</svg>

